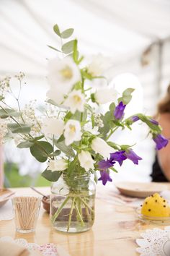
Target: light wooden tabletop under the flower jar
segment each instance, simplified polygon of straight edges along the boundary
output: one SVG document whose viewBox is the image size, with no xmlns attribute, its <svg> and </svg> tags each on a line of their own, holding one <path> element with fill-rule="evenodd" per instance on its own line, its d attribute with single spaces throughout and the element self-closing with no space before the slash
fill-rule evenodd
<svg viewBox="0 0 170 256">
<path fill-rule="evenodd" d="M 49 187 L 37 189 L 45 195 L 50 192 Z M 35 233 L 19 234 L 15 232 L 14 221 L 0 221 L 0 237 L 24 238 L 37 244 L 60 244 L 71 256 L 136 256 L 135 239 L 140 237 L 143 230 L 155 226 L 140 223 L 134 208 L 115 205 L 112 202 L 113 189 L 97 187 L 96 219 L 90 231 L 81 234 L 59 233 L 50 226 L 48 213 L 41 207 Z M 30 188 L 12 190 L 17 195 L 35 195 Z"/>
</svg>

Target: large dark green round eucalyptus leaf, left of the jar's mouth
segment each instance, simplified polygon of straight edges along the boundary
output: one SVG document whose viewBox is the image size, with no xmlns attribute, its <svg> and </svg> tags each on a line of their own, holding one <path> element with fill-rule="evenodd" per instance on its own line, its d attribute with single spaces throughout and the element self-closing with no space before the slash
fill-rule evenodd
<svg viewBox="0 0 170 256">
<path fill-rule="evenodd" d="M 47 161 L 48 156 L 53 152 L 53 146 L 49 142 L 38 141 L 30 147 L 30 152 L 37 161 L 43 163 Z"/>
</svg>

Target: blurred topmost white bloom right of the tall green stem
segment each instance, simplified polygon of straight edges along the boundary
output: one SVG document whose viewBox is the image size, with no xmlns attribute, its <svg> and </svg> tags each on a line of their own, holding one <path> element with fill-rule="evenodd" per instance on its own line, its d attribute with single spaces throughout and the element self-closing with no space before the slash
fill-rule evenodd
<svg viewBox="0 0 170 256">
<path fill-rule="evenodd" d="M 88 67 L 88 72 L 93 77 L 99 77 L 104 74 L 104 72 L 111 67 L 111 61 L 109 58 L 102 56 L 102 54 L 97 54 L 92 59 Z"/>
</svg>

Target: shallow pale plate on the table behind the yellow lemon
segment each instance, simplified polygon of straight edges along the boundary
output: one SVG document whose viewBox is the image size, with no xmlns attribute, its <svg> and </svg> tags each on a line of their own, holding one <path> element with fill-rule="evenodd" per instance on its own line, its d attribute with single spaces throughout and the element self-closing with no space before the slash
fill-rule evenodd
<svg viewBox="0 0 170 256">
<path fill-rule="evenodd" d="M 160 184 L 158 182 L 117 182 L 115 186 L 119 189 L 122 195 L 141 198 L 168 189 L 166 184 Z"/>
</svg>

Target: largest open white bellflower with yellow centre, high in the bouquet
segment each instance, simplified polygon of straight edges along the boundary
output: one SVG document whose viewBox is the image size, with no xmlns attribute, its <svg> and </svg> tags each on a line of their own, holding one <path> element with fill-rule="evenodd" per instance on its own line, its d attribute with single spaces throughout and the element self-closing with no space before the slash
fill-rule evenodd
<svg viewBox="0 0 170 256">
<path fill-rule="evenodd" d="M 48 81 L 50 82 L 50 90 L 47 96 L 57 104 L 61 104 L 64 96 L 67 95 L 73 85 L 81 80 L 79 67 L 74 63 L 71 57 L 64 59 L 52 59 L 48 65 Z"/>
</svg>

